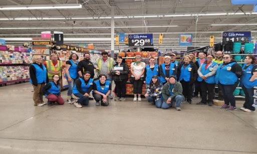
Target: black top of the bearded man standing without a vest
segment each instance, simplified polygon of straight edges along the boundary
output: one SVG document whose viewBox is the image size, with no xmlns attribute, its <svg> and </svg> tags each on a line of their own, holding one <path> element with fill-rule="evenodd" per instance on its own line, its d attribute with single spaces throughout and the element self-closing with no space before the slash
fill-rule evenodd
<svg viewBox="0 0 257 154">
<path fill-rule="evenodd" d="M 85 71 L 90 71 L 91 78 L 94 78 L 94 64 L 90 60 L 83 59 L 78 63 L 77 71 L 81 71 L 82 75 L 84 75 Z"/>
</svg>

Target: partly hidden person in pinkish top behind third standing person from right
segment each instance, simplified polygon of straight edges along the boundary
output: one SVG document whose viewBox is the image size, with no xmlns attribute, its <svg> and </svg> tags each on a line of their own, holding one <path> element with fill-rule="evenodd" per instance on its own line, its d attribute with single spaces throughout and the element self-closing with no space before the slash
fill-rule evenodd
<svg viewBox="0 0 257 154">
<path fill-rule="evenodd" d="M 198 52 L 198 58 L 195 61 L 195 65 L 196 65 L 197 69 L 200 67 L 201 64 L 203 64 L 204 61 L 206 61 L 205 57 L 206 57 L 206 54 L 204 52 Z M 197 74 L 197 77 L 198 77 L 198 74 Z M 193 91 L 194 91 L 193 97 L 198 97 L 198 94 L 200 94 L 200 96 L 202 96 L 201 85 L 198 80 L 195 80 L 195 82 L 194 82 L 194 90 Z"/>
</svg>

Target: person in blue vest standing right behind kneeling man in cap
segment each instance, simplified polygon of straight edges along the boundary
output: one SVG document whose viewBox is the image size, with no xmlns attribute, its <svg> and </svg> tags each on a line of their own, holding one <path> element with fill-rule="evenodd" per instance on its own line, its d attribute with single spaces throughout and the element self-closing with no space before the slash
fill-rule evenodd
<svg viewBox="0 0 257 154">
<path fill-rule="evenodd" d="M 160 78 L 162 84 L 165 84 L 169 80 L 169 76 L 177 74 L 177 66 L 170 62 L 170 56 L 164 56 L 164 63 L 159 66 Z"/>
</svg>

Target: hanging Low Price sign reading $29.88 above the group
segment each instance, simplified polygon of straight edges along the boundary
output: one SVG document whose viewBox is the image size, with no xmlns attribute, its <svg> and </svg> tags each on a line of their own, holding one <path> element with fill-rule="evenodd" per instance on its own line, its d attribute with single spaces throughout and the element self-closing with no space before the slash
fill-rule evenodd
<svg viewBox="0 0 257 154">
<path fill-rule="evenodd" d="M 129 34 L 129 46 L 153 46 L 153 34 Z"/>
</svg>

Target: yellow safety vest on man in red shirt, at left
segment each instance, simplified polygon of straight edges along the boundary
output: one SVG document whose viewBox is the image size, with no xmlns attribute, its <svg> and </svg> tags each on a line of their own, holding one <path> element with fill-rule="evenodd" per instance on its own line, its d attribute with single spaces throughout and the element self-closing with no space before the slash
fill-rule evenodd
<svg viewBox="0 0 257 154">
<path fill-rule="evenodd" d="M 47 60 L 47 71 L 48 71 L 48 78 L 52 79 L 52 76 L 54 74 L 58 74 L 59 76 L 62 76 L 62 68 L 63 68 L 63 62 L 58 60 L 57 64 L 54 66 L 54 63 L 52 60 Z"/>
</svg>

